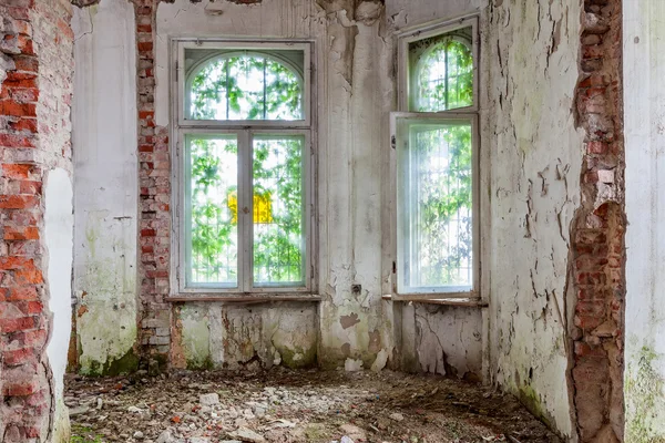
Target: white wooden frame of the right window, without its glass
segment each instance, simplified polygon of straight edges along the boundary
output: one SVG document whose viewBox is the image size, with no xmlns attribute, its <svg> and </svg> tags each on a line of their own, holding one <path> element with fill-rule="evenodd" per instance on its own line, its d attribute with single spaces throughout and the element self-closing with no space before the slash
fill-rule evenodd
<svg viewBox="0 0 665 443">
<path fill-rule="evenodd" d="M 473 54 L 473 103 L 471 106 L 458 107 L 450 111 L 440 112 L 412 112 L 410 110 L 411 99 L 411 73 L 409 70 L 409 45 L 412 42 L 429 39 L 432 37 L 446 34 L 459 29 L 472 29 L 472 54 Z M 390 207 L 391 210 L 391 254 L 393 257 L 393 267 L 391 272 L 391 292 L 392 299 L 415 300 L 415 299 L 459 299 L 472 298 L 480 299 L 481 285 L 481 143 L 480 143 L 480 119 L 479 119 L 479 64 L 480 64 L 480 39 L 478 33 L 478 16 L 466 16 L 456 20 L 439 21 L 428 23 L 417 28 L 410 28 L 398 35 L 398 106 L 399 112 L 390 115 Z M 399 141 L 398 125 L 400 121 L 431 121 L 432 123 L 446 124 L 451 121 L 468 121 L 471 124 L 471 150 L 472 150 L 472 235 L 473 235 L 473 278 L 470 290 L 464 287 L 428 287 L 418 288 L 418 290 L 408 290 L 402 288 L 400 279 L 403 278 L 405 264 L 402 251 L 399 250 L 399 229 L 401 228 L 400 215 L 398 210 L 398 154 L 397 144 L 403 143 Z"/>
</svg>

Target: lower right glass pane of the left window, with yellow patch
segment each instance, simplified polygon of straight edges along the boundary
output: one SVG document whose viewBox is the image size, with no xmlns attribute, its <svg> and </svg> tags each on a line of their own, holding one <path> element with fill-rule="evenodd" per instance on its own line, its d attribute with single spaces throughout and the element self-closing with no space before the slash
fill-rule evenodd
<svg viewBox="0 0 665 443">
<path fill-rule="evenodd" d="M 303 148 L 295 136 L 254 138 L 254 286 L 304 286 Z"/>
</svg>

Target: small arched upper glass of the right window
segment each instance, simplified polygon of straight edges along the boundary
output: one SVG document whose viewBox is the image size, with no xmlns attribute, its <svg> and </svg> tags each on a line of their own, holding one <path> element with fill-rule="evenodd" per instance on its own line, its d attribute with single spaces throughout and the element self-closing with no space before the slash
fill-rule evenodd
<svg viewBox="0 0 665 443">
<path fill-rule="evenodd" d="M 473 52 L 464 33 L 421 40 L 410 52 L 412 111 L 439 112 L 473 105 Z"/>
</svg>

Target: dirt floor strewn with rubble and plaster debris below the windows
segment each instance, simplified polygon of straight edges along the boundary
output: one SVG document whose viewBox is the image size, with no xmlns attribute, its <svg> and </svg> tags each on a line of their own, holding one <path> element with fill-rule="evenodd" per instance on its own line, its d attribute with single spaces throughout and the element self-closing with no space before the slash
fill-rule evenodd
<svg viewBox="0 0 665 443">
<path fill-rule="evenodd" d="M 560 442 L 512 396 L 440 377 L 274 369 L 69 375 L 72 442 Z"/>
</svg>

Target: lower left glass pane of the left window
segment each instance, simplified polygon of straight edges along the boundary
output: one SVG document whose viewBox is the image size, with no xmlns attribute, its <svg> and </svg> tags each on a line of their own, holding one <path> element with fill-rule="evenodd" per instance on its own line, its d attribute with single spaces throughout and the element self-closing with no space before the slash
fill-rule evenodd
<svg viewBox="0 0 665 443">
<path fill-rule="evenodd" d="M 237 138 L 191 135 L 186 145 L 187 285 L 237 287 Z"/>
</svg>

